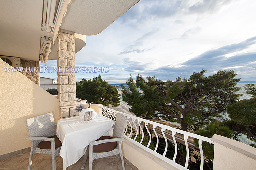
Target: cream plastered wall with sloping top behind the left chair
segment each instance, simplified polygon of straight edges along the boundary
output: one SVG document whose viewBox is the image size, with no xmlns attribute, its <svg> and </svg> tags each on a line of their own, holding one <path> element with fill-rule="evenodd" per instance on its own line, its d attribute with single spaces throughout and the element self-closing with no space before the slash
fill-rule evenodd
<svg viewBox="0 0 256 170">
<path fill-rule="evenodd" d="M 0 59 L 0 155 L 30 147 L 25 120 L 53 112 L 59 119 L 59 100 L 23 74 L 6 73 Z"/>
</svg>

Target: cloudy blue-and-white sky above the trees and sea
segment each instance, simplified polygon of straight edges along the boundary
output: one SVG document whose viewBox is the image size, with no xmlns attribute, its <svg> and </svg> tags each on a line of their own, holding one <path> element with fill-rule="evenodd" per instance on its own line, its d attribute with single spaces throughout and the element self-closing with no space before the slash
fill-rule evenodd
<svg viewBox="0 0 256 170">
<path fill-rule="evenodd" d="M 125 83 L 138 73 L 175 80 L 202 69 L 207 75 L 232 69 L 241 81 L 256 81 L 255 6 L 255 0 L 141 0 L 103 32 L 87 36 L 75 55 L 76 66 L 109 72 L 79 72 L 76 81 L 101 74 L 108 83 Z"/>
</svg>

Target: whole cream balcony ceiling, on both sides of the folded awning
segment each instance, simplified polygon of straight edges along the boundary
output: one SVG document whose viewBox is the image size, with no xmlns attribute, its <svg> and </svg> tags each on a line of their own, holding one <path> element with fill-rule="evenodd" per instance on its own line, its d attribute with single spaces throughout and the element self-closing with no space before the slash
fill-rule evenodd
<svg viewBox="0 0 256 170">
<path fill-rule="evenodd" d="M 60 28 L 82 35 L 102 32 L 139 0 L 73 0 Z M 39 60 L 40 37 L 52 37 L 41 31 L 42 0 L 0 1 L 0 55 Z M 85 46 L 76 38 L 76 52 Z M 55 46 L 56 46 L 55 42 Z M 49 59 L 57 59 L 52 46 Z"/>
</svg>

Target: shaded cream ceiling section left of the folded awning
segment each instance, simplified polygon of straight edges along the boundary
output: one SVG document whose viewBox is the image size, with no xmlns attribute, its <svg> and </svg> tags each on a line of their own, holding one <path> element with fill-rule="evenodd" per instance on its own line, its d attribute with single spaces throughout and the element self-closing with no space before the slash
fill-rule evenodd
<svg viewBox="0 0 256 170">
<path fill-rule="evenodd" d="M 0 1 L 0 55 L 39 60 L 42 0 Z"/>
</svg>

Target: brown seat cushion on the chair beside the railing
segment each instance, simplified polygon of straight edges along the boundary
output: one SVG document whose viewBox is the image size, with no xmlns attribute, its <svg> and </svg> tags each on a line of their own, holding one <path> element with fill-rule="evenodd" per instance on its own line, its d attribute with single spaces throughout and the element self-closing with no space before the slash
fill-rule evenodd
<svg viewBox="0 0 256 170">
<path fill-rule="evenodd" d="M 104 139 L 113 139 L 111 136 L 102 136 L 98 140 L 104 140 Z M 109 152 L 112 151 L 116 148 L 117 142 L 108 142 L 108 143 L 102 143 L 99 145 L 94 145 L 93 146 L 93 152 Z"/>
</svg>

